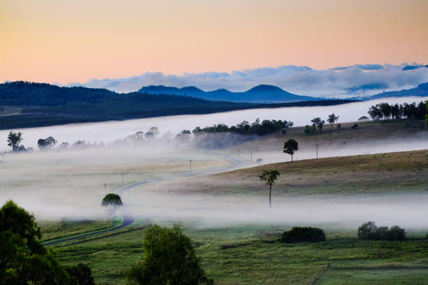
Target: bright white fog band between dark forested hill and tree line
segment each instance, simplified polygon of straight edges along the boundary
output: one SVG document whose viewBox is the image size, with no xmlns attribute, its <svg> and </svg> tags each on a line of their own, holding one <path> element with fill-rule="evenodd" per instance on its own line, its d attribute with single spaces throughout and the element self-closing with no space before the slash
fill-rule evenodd
<svg viewBox="0 0 428 285">
<path fill-rule="evenodd" d="M 327 116 L 332 112 L 335 112 L 336 115 L 340 115 L 339 122 L 353 122 L 357 121 L 359 117 L 368 117 L 367 110 L 369 110 L 371 105 L 376 105 L 377 103 L 411 103 L 413 101 L 420 102 L 427 99 L 428 97 L 383 98 L 334 106 L 240 110 L 208 115 L 180 115 L 115 122 L 69 124 L 16 129 L 15 131 L 22 131 L 22 138 L 24 138 L 23 144 L 27 147 L 37 147 L 37 140 L 48 136 L 53 136 L 59 143 L 73 143 L 77 140 L 107 143 L 125 138 L 136 131 L 147 131 L 152 126 L 157 126 L 161 133 L 170 132 L 175 136 L 183 129 L 192 131 L 196 126 L 204 127 L 213 124 L 227 124 L 231 126 L 244 120 L 254 122 L 257 118 L 260 120 L 285 119 L 294 122 L 294 126 L 305 126 L 306 124 L 310 124 L 311 119 L 314 117 L 327 119 Z M 0 141 L 3 140 L 6 142 L 7 136 L 8 130 L 0 131 Z M 0 144 L 0 152 L 6 150 L 8 150 L 6 143 Z"/>
</svg>

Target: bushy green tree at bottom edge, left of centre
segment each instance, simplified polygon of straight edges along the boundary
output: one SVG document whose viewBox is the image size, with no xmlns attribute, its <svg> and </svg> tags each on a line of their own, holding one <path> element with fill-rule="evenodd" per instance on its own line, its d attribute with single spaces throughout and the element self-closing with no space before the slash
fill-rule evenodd
<svg viewBox="0 0 428 285">
<path fill-rule="evenodd" d="M 143 240 L 145 257 L 127 273 L 128 285 L 213 284 L 201 268 L 192 240 L 184 235 L 180 226 L 162 228 L 152 226 Z"/>
</svg>

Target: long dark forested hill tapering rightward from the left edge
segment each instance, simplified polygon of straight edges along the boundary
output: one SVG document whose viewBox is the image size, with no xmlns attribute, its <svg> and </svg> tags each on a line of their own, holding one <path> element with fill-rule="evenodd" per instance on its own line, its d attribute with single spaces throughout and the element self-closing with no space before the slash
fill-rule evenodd
<svg viewBox="0 0 428 285">
<path fill-rule="evenodd" d="M 280 104 L 206 101 L 192 96 L 119 94 L 107 89 L 58 87 L 43 83 L 8 82 L 0 85 L 0 129 L 52 126 L 77 122 L 138 119 L 167 115 L 208 114 L 252 108 L 338 105 L 347 100 Z M 18 110 L 10 115 L 6 110 Z"/>
</svg>

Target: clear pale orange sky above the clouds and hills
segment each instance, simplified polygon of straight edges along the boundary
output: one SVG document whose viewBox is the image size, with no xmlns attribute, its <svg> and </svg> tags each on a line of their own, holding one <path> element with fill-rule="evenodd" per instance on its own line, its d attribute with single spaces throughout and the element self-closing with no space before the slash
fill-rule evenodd
<svg viewBox="0 0 428 285">
<path fill-rule="evenodd" d="M 0 0 L 0 80 L 428 64 L 426 0 Z"/>
</svg>

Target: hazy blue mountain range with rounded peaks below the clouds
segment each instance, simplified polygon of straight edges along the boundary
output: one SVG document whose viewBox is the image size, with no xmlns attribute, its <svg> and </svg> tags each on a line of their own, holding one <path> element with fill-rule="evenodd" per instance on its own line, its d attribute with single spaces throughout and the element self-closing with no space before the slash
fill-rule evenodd
<svg viewBox="0 0 428 285">
<path fill-rule="evenodd" d="M 150 85 L 138 90 L 143 94 L 169 94 L 181 96 L 193 96 L 211 101 L 231 101 L 241 103 L 287 103 L 301 101 L 318 101 L 326 98 L 299 96 L 286 92 L 273 85 L 257 85 L 245 92 L 230 92 L 227 89 L 204 91 L 194 86 L 177 88 L 164 85 Z"/>
</svg>

